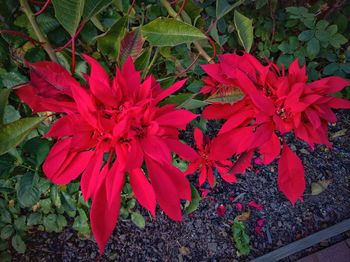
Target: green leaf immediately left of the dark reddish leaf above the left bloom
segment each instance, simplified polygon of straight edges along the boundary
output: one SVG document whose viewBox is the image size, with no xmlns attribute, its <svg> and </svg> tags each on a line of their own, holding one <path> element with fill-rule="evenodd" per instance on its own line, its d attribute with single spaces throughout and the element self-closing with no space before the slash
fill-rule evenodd
<svg viewBox="0 0 350 262">
<path fill-rule="evenodd" d="M 97 48 L 110 59 L 118 58 L 120 41 L 126 32 L 127 23 L 128 18 L 122 17 L 106 33 L 96 38 Z"/>
</svg>

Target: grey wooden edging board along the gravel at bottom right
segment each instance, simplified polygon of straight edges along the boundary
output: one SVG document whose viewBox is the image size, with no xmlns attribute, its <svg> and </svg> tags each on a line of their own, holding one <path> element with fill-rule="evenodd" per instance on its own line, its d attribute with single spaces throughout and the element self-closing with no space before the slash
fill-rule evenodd
<svg viewBox="0 0 350 262">
<path fill-rule="evenodd" d="M 339 235 L 345 231 L 350 230 L 350 219 L 346 219 L 334 226 L 323 229 L 308 237 L 297 240 L 284 247 L 274 250 L 266 255 L 253 259 L 251 262 L 273 262 L 278 261 L 287 256 L 293 255 L 303 249 L 314 246 L 320 241 Z"/>
</svg>

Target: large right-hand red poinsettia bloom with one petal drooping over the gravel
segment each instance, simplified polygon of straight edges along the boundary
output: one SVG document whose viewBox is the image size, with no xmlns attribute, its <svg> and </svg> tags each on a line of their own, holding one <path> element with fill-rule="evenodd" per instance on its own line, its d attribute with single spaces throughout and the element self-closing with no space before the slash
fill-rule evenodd
<svg viewBox="0 0 350 262">
<path fill-rule="evenodd" d="M 222 55 L 218 64 L 204 65 L 209 75 L 204 79 L 203 93 L 240 89 L 245 96 L 234 104 L 214 103 L 203 116 L 207 119 L 226 119 L 215 138 L 215 155 L 245 157 L 250 162 L 252 151 L 259 151 L 262 163 L 269 164 L 281 152 L 282 136 L 293 131 L 295 136 L 314 144 L 331 146 L 327 138 L 328 123 L 336 121 L 332 108 L 350 108 L 350 102 L 330 96 L 341 91 L 350 81 L 328 77 L 307 83 L 305 66 L 294 61 L 288 74 L 275 64 L 262 65 L 244 53 Z M 278 131 L 278 133 L 276 133 Z M 214 144 L 214 141 L 213 141 Z M 294 205 L 305 189 L 301 160 L 284 144 L 278 168 L 279 189 Z"/>
</svg>

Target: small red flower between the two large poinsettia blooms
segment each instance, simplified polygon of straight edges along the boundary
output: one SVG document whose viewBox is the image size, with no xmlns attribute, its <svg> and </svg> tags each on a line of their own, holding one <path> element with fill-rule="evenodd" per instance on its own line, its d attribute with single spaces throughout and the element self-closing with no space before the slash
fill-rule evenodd
<svg viewBox="0 0 350 262">
<path fill-rule="evenodd" d="M 221 177 L 227 182 L 236 182 L 235 174 L 232 172 L 233 164 L 226 158 L 220 158 L 215 152 L 217 149 L 215 144 L 212 144 L 209 137 L 203 136 L 202 131 L 199 128 L 194 130 L 194 140 L 196 142 L 197 152 L 191 158 L 188 165 L 186 174 L 192 174 L 196 170 L 199 170 L 199 186 L 208 179 L 208 183 L 211 187 L 214 187 L 215 176 L 213 168 L 216 168 Z M 223 148 L 222 148 L 223 150 Z"/>
</svg>

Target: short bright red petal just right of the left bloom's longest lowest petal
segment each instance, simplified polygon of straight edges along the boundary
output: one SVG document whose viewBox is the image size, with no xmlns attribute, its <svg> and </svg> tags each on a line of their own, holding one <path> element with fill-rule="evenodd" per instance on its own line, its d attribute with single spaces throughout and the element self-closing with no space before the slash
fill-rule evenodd
<svg viewBox="0 0 350 262">
<path fill-rule="evenodd" d="M 130 185 L 136 196 L 137 201 L 156 216 L 156 195 L 152 185 L 148 182 L 142 169 L 133 169 L 129 171 Z"/>
</svg>

